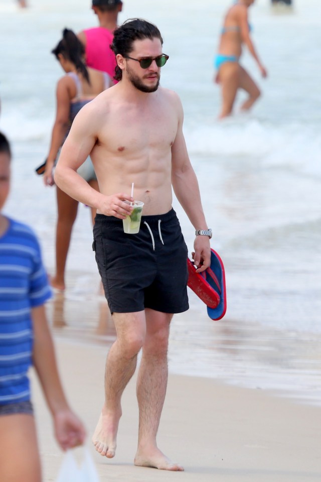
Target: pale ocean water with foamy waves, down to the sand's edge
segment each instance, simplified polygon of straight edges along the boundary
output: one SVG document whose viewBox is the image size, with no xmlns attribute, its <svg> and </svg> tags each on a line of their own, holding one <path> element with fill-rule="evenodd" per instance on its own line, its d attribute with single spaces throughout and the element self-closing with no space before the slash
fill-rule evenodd
<svg viewBox="0 0 321 482">
<path fill-rule="evenodd" d="M 260 79 L 244 52 L 242 64 L 262 98 L 249 114 L 240 114 L 240 93 L 235 115 L 219 123 L 213 56 L 229 5 L 124 0 L 119 17 L 146 18 L 163 34 L 170 60 L 162 85 L 182 98 L 212 247 L 226 268 L 226 317 L 211 321 L 190 292 L 189 312 L 173 321 L 170 369 L 321 404 L 321 4 L 294 0 L 293 10 L 275 11 L 268 0 L 257 0 L 250 9 L 252 35 L 269 76 Z M 34 226 L 49 272 L 55 190 L 45 188 L 34 169 L 48 151 L 55 84 L 62 75 L 50 51 L 64 27 L 78 32 L 96 24 L 89 0 L 30 0 L 25 11 L 14 0 L 0 0 L 0 129 L 14 153 L 6 211 Z M 194 229 L 177 201 L 174 207 L 191 252 Z M 91 238 L 89 209 L 80 206 L 69 287 L 51 303 L 50 316 L 57 336 L 109 346 L 114 331 L 99 295 Z"/>
</svg>

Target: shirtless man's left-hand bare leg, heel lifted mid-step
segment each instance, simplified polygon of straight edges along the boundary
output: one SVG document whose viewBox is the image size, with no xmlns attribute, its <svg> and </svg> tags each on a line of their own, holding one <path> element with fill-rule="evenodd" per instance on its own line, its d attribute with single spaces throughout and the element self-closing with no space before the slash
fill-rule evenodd
<svg viewBox="0 0 321 482">
<path fill-rule="evenodd" d="M 113 313 L 117 338 L 109 350 L 105 371 L 105 403 L 92 437 L 97 452 L 108 458 L 115 455 L 121 395 L 133 376 L 137 353 L 145 339 L 144 312 Z"/>
</svg>

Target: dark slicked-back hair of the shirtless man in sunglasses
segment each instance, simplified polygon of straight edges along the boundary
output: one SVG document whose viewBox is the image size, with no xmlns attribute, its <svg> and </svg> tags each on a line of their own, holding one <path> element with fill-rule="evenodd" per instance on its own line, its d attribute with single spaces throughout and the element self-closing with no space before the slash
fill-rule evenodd
<svg viewBox="0 0 321 482">
<path fill-rule="evenodd" d="M 128 19 L 114 30 L 114 38 L 110 48 L 115 55 L 120 54 L 126 57 L 132 51 L 132 44 L 135 40 L 152 40 L 154 38 L 159 39 L 163 45 L 161 32 L 155 25 L 143 19 Z M 114 79 L 121 80 L 121 78 L 122 70 L 116 65 Z"/>
</svg>

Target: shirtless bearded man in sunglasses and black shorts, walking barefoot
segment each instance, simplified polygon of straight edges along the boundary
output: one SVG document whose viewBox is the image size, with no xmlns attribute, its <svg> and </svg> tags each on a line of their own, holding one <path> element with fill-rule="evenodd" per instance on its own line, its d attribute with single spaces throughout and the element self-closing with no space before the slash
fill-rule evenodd
<svg viewBox="0 0 321 482">
<path fill-rule="evenodd" d="M 170 322 L 188 309 L 187 247 L 172 208 L 172 185 L 200 235 L 194 243 L 198 272 L 210 265 L 210 236 L 195 172 L 182 131 L 178 95 L 159 87 L 168 56 L 152 24 L 134 19 L 115 30 L 113 51 L 119 82 L 76 116 L 57 164 L 55 181 L 70 196 L 96 207 L 94 249 L 117 338 L 109 350 L 105 402 L 93 443 L 101 455 L 115 455 L 120 399 L 142 348 L 137 378 L 139 406 L 135 465 L 183 470 L 156 445 L 165 400 Z M 77 169 L 88 154 L 100 192 Z M 122 219 L 130 196 L 144 202 L 138 234 L 125 234 Z"/>
</svg>

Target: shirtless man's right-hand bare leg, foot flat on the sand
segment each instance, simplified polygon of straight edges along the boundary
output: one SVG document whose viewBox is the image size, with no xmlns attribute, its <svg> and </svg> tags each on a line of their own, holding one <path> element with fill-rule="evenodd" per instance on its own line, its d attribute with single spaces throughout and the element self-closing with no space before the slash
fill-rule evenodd
<svg viewBox="0 0 321 482">
<path fill-rule="evenodd" d="M 150 309 L 146 309 L 145 313 L 146 338 L 137 379 L 139 430 L 134 463 L 163 470 L 184 470 L 169 460 L 156 444 L 167 389 L 167 351 L 173 315 Z"/>
</svg>

